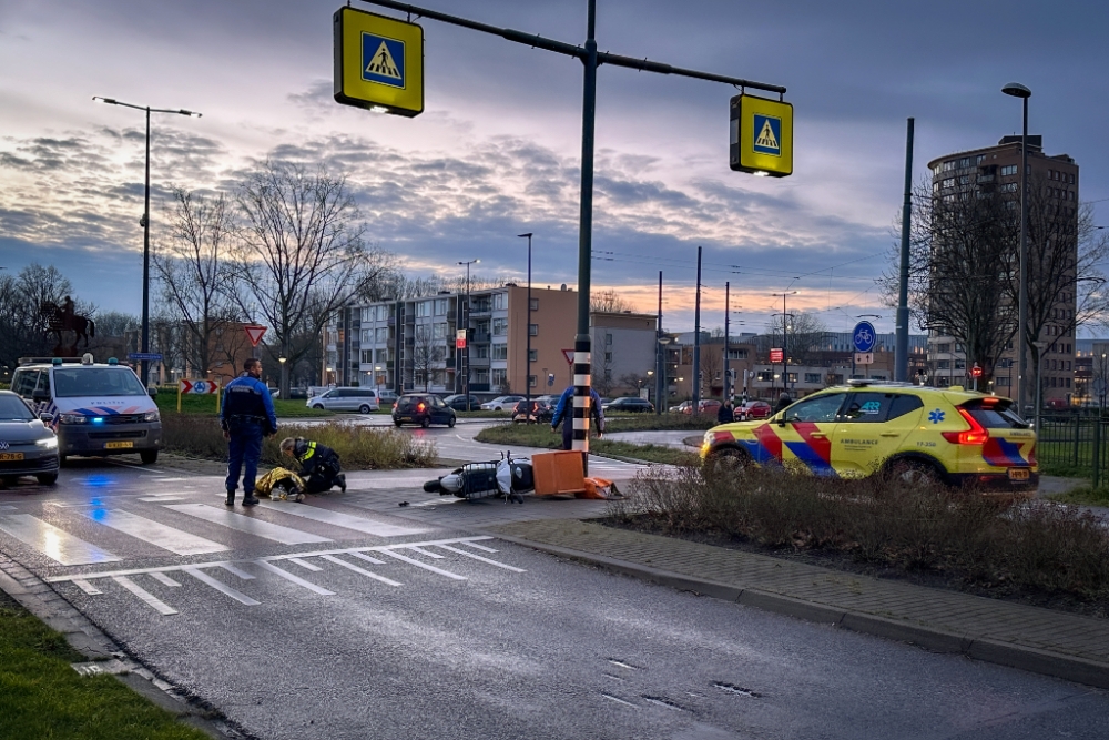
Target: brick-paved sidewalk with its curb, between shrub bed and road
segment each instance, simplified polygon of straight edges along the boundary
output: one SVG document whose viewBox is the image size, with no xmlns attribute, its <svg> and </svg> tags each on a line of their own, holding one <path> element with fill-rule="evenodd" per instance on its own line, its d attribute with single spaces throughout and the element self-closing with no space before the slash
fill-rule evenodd
<svg viewBox="0 0 1109 740">
<path fill-rule="evenodd" d="M 490 534 L 654 582 L 1109 688 L 1109 620 L 883 580 L 581 520 Z"/>
</svg>

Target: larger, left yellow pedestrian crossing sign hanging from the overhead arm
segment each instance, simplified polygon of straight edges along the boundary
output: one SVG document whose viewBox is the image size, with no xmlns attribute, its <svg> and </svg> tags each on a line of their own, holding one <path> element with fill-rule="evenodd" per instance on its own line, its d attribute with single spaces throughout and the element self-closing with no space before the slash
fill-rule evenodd
<svg viewBox="0 0 1109 740">
<path fill-rule="evenodd" d="M 350 7 L 335 11 L 335 100 L 411 118 L 424 112 L 424 29 Z"/>
</svg>

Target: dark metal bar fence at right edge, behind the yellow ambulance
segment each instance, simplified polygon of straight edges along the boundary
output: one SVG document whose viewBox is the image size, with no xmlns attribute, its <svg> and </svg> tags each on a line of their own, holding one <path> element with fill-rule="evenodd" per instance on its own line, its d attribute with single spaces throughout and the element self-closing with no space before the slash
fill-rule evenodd
<svg viewBox="0 0 1109 740">
<path fill-rule="evenodd" d="M 1083 412 L 1040 416 L 1036 458 L 1042 466 L 1059 466 L 1088 475 L 1098 487 L 1109 475 L 1109 416 Z"/>
</svg>

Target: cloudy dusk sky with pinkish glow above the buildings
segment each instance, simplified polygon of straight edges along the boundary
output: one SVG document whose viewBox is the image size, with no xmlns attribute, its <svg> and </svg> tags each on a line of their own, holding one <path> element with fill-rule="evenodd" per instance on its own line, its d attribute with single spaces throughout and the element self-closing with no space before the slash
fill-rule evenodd
<svg viewBox="0 0 1109 740">
<path fill-rule="evenodd" d="M 584 0 L 425 0 L 494 26 L 581 43 Z M 397 16 L 367 3 L 365 10 Z M 233 190 L 267 156 L 349 178 L 370 233 L 413 275 L 577 282 L 581 63 L 424 19 L 425 112 L 332 99 L 337 0 L 0 0 L 0 266 L 57 265 L 78 297 L 141 310 L 143 114 L 93 95 L 186 108 L 153 119 L 152 233 L 166 189 Z M 763 331 L 781 311 L 833 330 L 881 314 L 903 199 L 929 160 L 1019 133 L 1010 81 L 1032 90 L 1030 132 L 1080 166 L 1109 225 L 1109 3 L 1070 0 L 598 0 L 602 51 L 781 84 L 795 111 L 794 174 L 728 166 L 729 85 L 598 72 L 593 287 L 692 328 Z M 794 280 L 800 277 L 800 280 Z M 915 327 L 914 327 L 915 331 Z"/>
</svg>

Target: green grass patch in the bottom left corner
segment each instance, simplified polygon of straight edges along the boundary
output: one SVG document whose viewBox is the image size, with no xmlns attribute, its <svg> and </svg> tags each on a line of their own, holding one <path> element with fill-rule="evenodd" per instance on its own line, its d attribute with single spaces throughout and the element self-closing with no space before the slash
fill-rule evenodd
<svg viewBox="0 0 1109 740">
<path fill-rule="evenodd" d="M 114 677 L 70 667 L 85 660 L 0 594 L 0 739 L 207 740 Z"/>
</svg>

